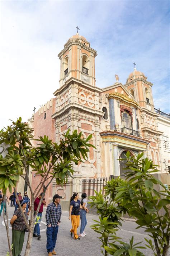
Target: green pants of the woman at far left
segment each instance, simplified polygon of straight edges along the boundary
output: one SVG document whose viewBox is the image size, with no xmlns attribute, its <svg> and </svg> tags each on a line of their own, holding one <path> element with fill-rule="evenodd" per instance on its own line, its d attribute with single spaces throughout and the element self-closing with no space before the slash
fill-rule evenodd
<svg viewBox="0 0 170 256">
<path fill-rule="evenodd" d="M 18 230 L 13 230 L 12 229 L 12 245 L 13 245 L 13 256 L 18 256 L 21 254 L 22 248 L 23 248 L 23 243 L 24 243 L 24 236 L 25 236 L 25 231 L 18 231 Z"/>
</svg>

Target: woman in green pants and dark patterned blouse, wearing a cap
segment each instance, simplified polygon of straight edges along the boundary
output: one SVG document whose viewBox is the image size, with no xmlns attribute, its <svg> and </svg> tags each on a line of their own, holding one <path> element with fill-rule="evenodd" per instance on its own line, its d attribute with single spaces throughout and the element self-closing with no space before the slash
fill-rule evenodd
<svg viewBox="0 0 170 256">
<path fill-rule="evenodd" d="M 20 200 L 19 202 L 22 206 L 25 217 L 28 220 L 28 215 L 25 211 L 27 202 L 25 200 Z M 10 224 L 12 226 L 12 254 L 13 256 L 21 256 L 20 253 L 23 248 L 26 224 L 22 212 L 19 208 L 14 212 L 14 215 L 10 220 Z"/>
</svg>

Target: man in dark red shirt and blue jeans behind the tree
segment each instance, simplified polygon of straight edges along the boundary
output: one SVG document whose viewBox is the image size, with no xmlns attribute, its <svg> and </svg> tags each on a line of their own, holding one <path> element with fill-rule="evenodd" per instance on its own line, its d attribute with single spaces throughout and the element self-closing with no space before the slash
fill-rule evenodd
<svg viewBox="0 0 170 256">
<path fill-rule="evenodd" d="M 40 202 L 40 200 L 41 200 L 42 194 L 43 194 L 43 193 L 41 193 L 41 194 L 35 199 L 35 201 L 34 201 L 34 215 L 36 214 L 36 211 L 37 211 L 39 202 Z M 45 201 L 45 198 L 43 198 L 43 201 L 42 201 L 42 203 L 41 203 L 41 206 L 40 206 L 39 211 L 38 211 L 38 214 L 37 214 L 37 217 L 39 217 L 39 220 L 37 220 L 37 218 L 36 218 L 36 222 L 38 221 L 38 223 L 35 225 L 35 227 L 34 227 L 34 233 L 33 233 L 33 237 L 37 237 L 38 240 L 41 239 L 39 224 L 40 224 L 41 219 L 42 219 L 43 206 L 45 206 L 45 205 L 46 205 L 46 201 Z M 31 209 L 31 208 L 29 208 L 29 211 L 28 211 L 28 213 L 27 213 L 28 215 L 29 215 L 30 209 Z"/>
</svg>

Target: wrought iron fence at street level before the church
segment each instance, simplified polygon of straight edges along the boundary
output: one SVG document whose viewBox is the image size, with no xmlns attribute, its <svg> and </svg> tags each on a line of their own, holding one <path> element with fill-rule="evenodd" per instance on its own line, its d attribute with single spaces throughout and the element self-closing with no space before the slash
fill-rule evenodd
<svg viewBox="0 0 170 256">
<path fill-rule="evenodd" d="M 102 192 L 103 196 L 105 195 L 105 189 L 104 187 L 107 184 L 107 181 L 110 181 L 111 177 L 104 177 L 104 178 L 96 178 L 96 179 L 82 179 L 80 180 L 80 197 L 82 193 L 87 194 L 87 199 L 90 199 L 91 196 L 95 196 L 96 192 Z M 107 196 L 106 199 L 110 200 L 110 197 Z"/>
</svg>

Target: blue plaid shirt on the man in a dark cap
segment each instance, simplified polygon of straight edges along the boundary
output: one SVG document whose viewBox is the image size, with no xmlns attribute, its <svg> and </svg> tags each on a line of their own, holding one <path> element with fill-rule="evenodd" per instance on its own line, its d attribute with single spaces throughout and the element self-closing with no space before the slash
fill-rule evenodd
<svg viewBox="0 0 170 256">
<path fill-rule="evenodd" d="M 61 205 L 60 203 L 56 207 L 55 203 L 49 203 L 46 210 L 46 222 L 47 226 L 51 224 L 53 227 L 57 226 L 57 223 L 61 222 Z"/>
</svg>

